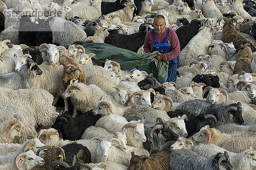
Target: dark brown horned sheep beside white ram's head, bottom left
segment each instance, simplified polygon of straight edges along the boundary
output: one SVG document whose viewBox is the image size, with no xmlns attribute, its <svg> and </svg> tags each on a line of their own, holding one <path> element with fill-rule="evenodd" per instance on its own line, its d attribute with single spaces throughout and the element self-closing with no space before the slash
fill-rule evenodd
<svg viewBox="0 0 256 170">
<path fill-rule="evenodd" d="M 45 150 L 47 149 L 47 150 Z M 32 168 L 31 170 L 47 170 L 47 166 L 53 162 L 53 161 L 65 161 L 65 153 L 64 150 L 61 147 L 58 146 L 49 146 L 45 145 L 40 147 L 38 149 L 36 155 L 38 156 L 40 151 L 44 150 L 45 154 L 42 155 L 42 158 L 44 159 L 44 165 L 43 166 L 36 166 Z"/>
</svg>

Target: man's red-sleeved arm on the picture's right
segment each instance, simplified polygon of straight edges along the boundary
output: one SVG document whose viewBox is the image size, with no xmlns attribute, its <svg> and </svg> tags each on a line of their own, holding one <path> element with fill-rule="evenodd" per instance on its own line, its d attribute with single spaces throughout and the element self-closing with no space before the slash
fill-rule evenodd
<svg viewBox="0 0 256 170">
<path fill-rule="evenodd" d="M 170 32 L 169 32 L 169 40 L 171 41 L 172 51 L 170 51 L 169 53 L 160 55 L 160 59 L 163 61 L 169 61 L 171 59 L 174 59 L 175 57 L 177 57 L 180 54 L 179 39 L 178 39 L 175 31 L 173 31 L 171 28 L 170 28 Z"/>
</svg>

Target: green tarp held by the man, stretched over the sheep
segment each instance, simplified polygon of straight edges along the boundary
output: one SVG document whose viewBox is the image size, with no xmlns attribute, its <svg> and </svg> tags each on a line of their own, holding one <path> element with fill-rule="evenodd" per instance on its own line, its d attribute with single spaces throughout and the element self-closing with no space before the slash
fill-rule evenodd
<svg viewBox="0 0 256 170">
<path fill-rule="evenodd" d="M 83 46 L 86 53 L 96 54 L 93 58 L 97 61 L 105 63 L 105 59 L 111 59 L 120 63 L 121 69 L 131 70 L 132 68 L 137 68 L 147 73 L 153 73 L 158 82 L 162 82 L 168 72 L 169 62 L 158 61 L 155 58 L 160 55 L 158 51 L 139 56 L 133 51 L 117 48 L 105 43 L 88 43 Z"/>
</svg>

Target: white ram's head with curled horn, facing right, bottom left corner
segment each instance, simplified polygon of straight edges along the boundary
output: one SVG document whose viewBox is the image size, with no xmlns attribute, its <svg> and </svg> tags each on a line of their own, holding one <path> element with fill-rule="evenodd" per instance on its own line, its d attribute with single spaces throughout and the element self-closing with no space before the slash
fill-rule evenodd
<svg viewBox="0 0 256 170">
<path fill-rule="evenodd" d="M 44 159 L 36 156 L 32 150 L 20 153 L 15 158 L 15 165 L 18 169 L 30 170 L 35 166 L 42 166 L 44 164 Z"/>
</svg>

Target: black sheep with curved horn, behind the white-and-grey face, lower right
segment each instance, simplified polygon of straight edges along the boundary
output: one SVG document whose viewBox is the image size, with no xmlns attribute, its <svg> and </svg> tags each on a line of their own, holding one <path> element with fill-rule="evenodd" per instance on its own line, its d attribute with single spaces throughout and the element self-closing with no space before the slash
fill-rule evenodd
<svg viewBox="0 0 256 170">
<path fill-rule="evenodd" d="M 205 125 L 209 125 L 211 128 L 215 127 L 215 124 L 217 122 L 217 119 L 215 118 L 215 116 L 211 114 L 202 115 L 195 112 L 188 112 L 188 111 L 182 111 L 182 110 L 169 111 L 167 112 L 167 114 L 170 118 L 174 118 L 174 117 L 182 116 L 183 114 L 186 114 L 186 116 L 188 117 L 188 121 L 184 120 L 186 125 L 186 130 L 188 133 L 186 138 L 192 136 L 194 133 L 199 132 L 200 129 Z"/>
</svg>

